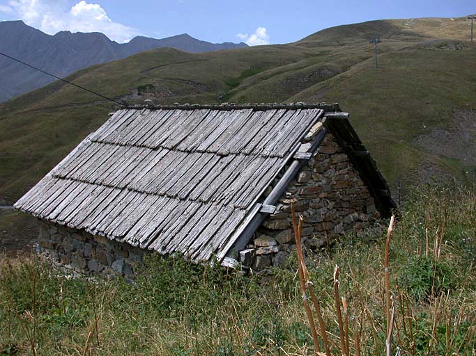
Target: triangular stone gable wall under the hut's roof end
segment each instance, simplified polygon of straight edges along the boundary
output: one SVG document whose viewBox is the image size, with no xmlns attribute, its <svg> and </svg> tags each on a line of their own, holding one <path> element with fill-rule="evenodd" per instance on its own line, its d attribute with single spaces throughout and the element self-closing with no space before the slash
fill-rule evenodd
<svg viewBox="0 0 476 356">
<path fill-rule="evenodd" d="M 282 267 L 295 249 L 291 202 L 296 215 L 304 218 L 302 242 L 315 250 L 346 232 L 357 234 L 378 218 L 371 197 L 357 170 L 330 133 L 318 152 L 279 199 L 277 211 L 266 218 L 254 234 L 252 244 L 240 253 L 244 265 L 253 270 Z"/>
</svg>

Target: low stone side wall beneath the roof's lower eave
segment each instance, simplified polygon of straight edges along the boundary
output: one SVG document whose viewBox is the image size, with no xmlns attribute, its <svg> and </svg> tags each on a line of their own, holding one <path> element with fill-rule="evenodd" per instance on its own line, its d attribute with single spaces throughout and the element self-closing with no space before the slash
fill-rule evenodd
<svg viewBox="0 0 476 356">
<path fill-rule="evenodd" d="M 78 273 L 134 276 L 146 250 L 104 236 L 40 220 L 40 252 L 62 268 Z"/>
</svg>

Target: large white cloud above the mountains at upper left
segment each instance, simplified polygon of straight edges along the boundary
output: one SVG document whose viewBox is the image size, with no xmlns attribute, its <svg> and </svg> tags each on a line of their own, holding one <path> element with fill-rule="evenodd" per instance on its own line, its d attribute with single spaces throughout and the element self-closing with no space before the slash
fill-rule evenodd
<svg viewBox="0 0 476 356">
<path fill-rule="evenodd" d="M 10 0 L 8 8 L 29 26 L 54 35 L 59 31 L 102 32 L 117 42 L 127 42 L 139 31 L 109 18 L 98 3 L 79 1 L 72 7 L 68 0 Z M 3 6 L 0 11 L 4 10 Z"/>
</svg>

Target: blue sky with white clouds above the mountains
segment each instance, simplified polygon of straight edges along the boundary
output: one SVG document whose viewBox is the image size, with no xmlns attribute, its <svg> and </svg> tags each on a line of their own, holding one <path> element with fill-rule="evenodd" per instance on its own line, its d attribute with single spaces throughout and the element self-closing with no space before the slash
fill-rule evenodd
<svg viewBox="0 0 476 356">
<path fill-rule="evenodd" d="M 0 0 L 0 21 L 22 19 L 51 35 L 97 31 L 120 43 L 181 33 L 209 42 L 289 43 L 340 24 L 472 13 L 475 0 Z"/>
</svg>

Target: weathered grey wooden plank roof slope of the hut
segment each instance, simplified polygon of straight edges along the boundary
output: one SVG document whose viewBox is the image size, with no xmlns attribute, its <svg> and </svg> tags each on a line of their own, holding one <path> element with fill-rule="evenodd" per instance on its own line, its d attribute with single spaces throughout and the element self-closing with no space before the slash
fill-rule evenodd
<svg viewBox="0 0 476 356">
<path fill-rule="evenodd" d="M 123 108 L 15 207 L 162 254 L 223 257 L 330 108 Z"/>
</svg>

